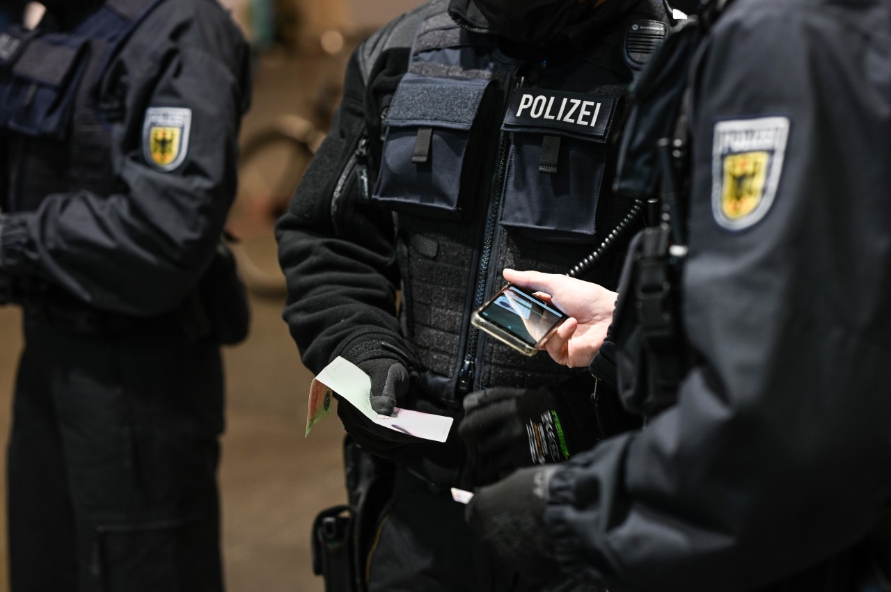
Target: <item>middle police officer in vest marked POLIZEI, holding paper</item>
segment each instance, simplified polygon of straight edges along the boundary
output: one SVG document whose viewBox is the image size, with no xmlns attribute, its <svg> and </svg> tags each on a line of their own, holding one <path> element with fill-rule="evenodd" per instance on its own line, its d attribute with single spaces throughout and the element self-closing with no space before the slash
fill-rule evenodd
<svg viewBox="0 0 891 592">
<path fill-rule="evenodd" d="M 331 134 L 277 227 L 285 320 L 309 369 L 336 356 L 364 369 L 379 413 L 460 423 L 462 399 L 477 392 L 480 409 L 512 426 L 493 452 L 474 430 L 420 441 L 341 401 L 349 434 L 396 464 L 372 528 L 371 590 L 511 589 L 449 488 L 593 445 L 592 377 L 493 342 L 470 312 L 509 265 L 566 272 L 596 251 L 585 277 L 615 285 L 619 231 L 641 216 L 609 191 L 611 142 L 667 10 L 662 0 L 434 0 L 353 54 Z M 564 442 L 534 456 L 527 426 L 543 416 L 560 418 Z"/>
</svg>

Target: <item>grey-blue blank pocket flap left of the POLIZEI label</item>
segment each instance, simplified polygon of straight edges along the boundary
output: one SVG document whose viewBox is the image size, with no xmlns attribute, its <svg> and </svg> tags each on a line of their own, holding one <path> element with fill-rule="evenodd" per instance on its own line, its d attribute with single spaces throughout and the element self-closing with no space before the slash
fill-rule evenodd
<svg viewBox="0 0 891 592">
<path fill-rule="evenodd" d="M 390 103 L 387 124 L 469 130 L 489 82 L 406 74 Z"/>
</svg>

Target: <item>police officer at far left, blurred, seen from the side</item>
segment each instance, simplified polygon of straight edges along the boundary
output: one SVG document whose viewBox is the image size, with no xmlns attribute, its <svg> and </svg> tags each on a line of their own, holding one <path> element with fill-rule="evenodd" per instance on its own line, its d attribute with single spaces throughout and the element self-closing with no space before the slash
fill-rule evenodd
<svg viewBox="0 0 891 592">
<path fill-rule="evenodd" d="M 245 327 L 217 322 L 244 312 L 217 244 L 247 47 L 213 0 L 44 4 L 0 35 L 12 590 L 222 590 L 219 343 Z"/>
</svg>

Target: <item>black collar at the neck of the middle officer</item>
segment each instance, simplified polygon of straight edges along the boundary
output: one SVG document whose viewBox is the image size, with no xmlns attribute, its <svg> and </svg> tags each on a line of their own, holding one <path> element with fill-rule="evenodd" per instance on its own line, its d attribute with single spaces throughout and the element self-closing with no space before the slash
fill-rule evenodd
<svg viewBox="0 0 891 592">
<path fill-rule="evenodd" d="M 595 7 L 593 0 L 591 2 L 591 9 L 582 18 L 568 23 L 559 23 L 560 31 L 545 31 L 549 33 L 547 39 L 537 45 L 541 47 L 569 45 L 575 49 L 582 49 L 589 45 L 592 39 L 596 39 L 602 28 L 609 28 L 626 12 L 631 12 L 634 9 L 634 4 L 637 4 L 627 0 L 606 0 L 600 6 Z M 474 33 L 502 36 L 519 44 L 528 44 L 528 39 L 541 36 L 543 32 L 543 22 L 535 14 L 524 20 L 513 21 L 510 28 L 500 27 L 500 23 L 487 20 L 473 0 L 449 0 L 448 13 L 462 28 Z M 544 25 L 554 27 L 558 26 L 558 23 L 544 23 Z M 505 30 L 509 32 L 505 34 Z"/>
</svg>

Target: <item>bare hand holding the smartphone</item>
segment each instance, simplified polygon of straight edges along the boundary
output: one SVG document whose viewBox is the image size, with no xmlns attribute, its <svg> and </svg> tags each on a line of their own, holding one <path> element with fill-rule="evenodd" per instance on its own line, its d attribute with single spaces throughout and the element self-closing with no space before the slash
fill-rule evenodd
<svg viewBox="0 0 891 592">
<path fill-rule="evenodd" d="M 587 366 L 601 349 L 616 308 L 616 292 L 566 275 L 504 270 L 504 279 L 534 290 L 570 318 L 547 340 L 544 349 L 554 361 L 569 368 Z"/>
</svg>

